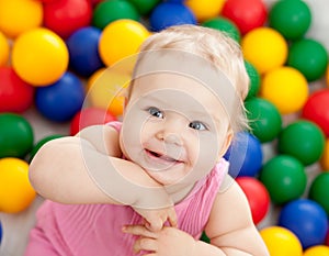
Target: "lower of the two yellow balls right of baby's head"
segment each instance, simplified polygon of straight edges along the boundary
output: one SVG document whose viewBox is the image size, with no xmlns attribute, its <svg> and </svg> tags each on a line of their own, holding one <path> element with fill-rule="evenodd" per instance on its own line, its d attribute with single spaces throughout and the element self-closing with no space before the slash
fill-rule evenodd
<svg viewBox="0 0 329 256">
<path fill-rule="evenodd" d="M 260 96 L 271 101 L 280 113 L 294 113 L 307 100 L 308 84 L 300 71 L 282 66 L 264 74 Z"/>
</svg>

